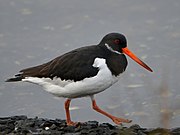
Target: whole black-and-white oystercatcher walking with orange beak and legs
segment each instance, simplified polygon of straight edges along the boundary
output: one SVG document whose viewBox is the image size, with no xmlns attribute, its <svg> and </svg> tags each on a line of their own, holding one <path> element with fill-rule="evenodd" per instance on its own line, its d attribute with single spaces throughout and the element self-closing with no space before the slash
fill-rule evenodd
<svg viewBox="0 0 180 135">
<path fill-rule="evenodd" d="M 64 103 L 67 125 L 76 124 L 70 117 L 71 100 L 85 96 L 91 98 L 94 110 L 109 117 L 114 123 L 130 123 L 131 120 L 115 117 L 100 109 L 94 98 L 95 94 L 116 83 L 120 74 L 126 70 L 128 63 L 124 54 L 152 72 L 127 48 L 124 35 L 109 33 L 98 45 L 78 48 L 45 64 L 23 69 L 7 82 L 38 84 L 57 97 L 67 98 Z"/>
</svg>

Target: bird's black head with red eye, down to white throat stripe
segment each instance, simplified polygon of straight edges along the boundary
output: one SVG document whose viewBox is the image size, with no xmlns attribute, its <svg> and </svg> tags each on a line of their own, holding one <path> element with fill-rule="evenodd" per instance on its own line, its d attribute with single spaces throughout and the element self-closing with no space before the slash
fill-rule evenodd
<svg viewBox="0 0 180 135">
<path fill-rule="evenodd" d="M 100 45 L 105 45 L 111 51 L 122 53 L 122 48 L 127 47 L 127 40 L 120 33 L 109 33 L 103 37 Z"/>
</svg>

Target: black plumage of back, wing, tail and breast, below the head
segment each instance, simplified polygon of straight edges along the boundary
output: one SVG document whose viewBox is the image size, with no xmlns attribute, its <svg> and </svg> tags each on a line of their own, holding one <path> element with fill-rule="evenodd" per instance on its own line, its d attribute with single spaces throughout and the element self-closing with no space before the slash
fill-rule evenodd
<svg viewBox="0 0 180 135">
<path fill-rule="evenodd" d="M 107 66 L 112 74 L 117 76 L 127 66 L 123 54 L 115 54 L 101 44 L 75 49 L 45 64 L 23 69 L 15 78 L 7 81 L 21 81 L 25 77 L 60 77 L 62 80 L 80 81 L 97 75 L 98 68 L 93 67 L 95 58 L 106 59 Z"/>
</svg>

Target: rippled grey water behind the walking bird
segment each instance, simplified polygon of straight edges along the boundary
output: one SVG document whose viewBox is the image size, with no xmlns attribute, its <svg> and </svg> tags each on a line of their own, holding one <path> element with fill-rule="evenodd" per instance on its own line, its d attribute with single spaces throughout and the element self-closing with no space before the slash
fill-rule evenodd
<svg viewBox="0 0 180 135">
<path fill-rule="evenodd" d="M 1 0 L 0 116 L 64 119 L 64 99 L 33 84 L 4 80 L 72 49 L 97 44 L 109 32 L 121 32 L 129 49 L 154 72 L 128 58 L 120 81 L 96 95 L 98 105 L 144 127 L 179 126 L 179 13 L 178 0 Z M 71 110 L 75 121 L 111 122 L 91 109 L 88 98 L 73 100 Z"/>
</svg>

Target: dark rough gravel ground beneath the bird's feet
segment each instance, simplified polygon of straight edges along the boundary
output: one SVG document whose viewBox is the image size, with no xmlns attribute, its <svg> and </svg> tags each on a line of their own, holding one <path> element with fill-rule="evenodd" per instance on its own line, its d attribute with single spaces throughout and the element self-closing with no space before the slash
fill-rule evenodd
<svg viewBox="0 0 180 135">
<path fill-rule="evenodd" d="M 27 135 L 180 135 L 180 127 L 146 129 L 135 124 L 130 127 L 88 121 L 67 126 L 65 120 L 11 116 L 0 118 L 0 134 Z"/>
</svg>

